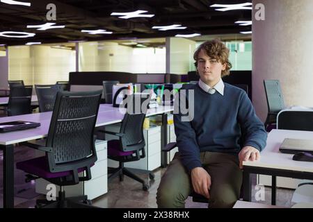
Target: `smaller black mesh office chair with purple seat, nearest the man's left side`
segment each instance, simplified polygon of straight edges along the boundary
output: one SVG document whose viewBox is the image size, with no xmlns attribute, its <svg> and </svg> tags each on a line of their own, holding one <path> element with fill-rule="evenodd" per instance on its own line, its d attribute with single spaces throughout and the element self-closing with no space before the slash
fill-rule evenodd
<svg viewBox="0 0 313 222">
<path fill-rule="evenodd" d="M 119 162 L 119 167 L 114 169 L 109 167 L 109 181 L 120 176 L 120 181 L 124 179 L 124 175 L 132 178 L 143 184 L 143 190 L 149 189 L 149 185 L 145 180 L 139 178 L 131 169 L 124 167 L 125 162 L 132 162 L 140 160 L 145 157 L 145 138 L 143 137 L 143 121 L 145 120 L 145 113 L 126 113 L 122 120 L 120 133 L 113 133 L 102 131 L 103 133 L 111 134 L 120 137 L 108 142 L 108 158 Z M 133 169 L 134 170 L 134 169 Z M 152 171 L 139 170 L 140 173 L 148 173 L 150 179 L 154 179 Z"/>
</svg>

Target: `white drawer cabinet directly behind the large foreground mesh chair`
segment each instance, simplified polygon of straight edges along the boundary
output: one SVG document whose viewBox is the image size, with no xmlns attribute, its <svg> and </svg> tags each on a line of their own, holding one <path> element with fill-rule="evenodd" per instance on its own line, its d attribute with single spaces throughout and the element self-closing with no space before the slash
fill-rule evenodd
<svg viewBox="0 0 313 222">
<path fill-rule="evenodd" d="M 91 180 L 79 182 L 78 185 L 64 186 L 66 196 L 87 195 L 92 200 L 106 194 L 108 191 L 108 161 L 106 141 L 96 140 L 95 148 L 97 151 L 97 162 L 90 168 Z M 47 194 L 47 185 L 50 182 L 42 178 L 35 180 L 35 190 L 38 194 Z M 56 196 L 59 187 L 56 186 Z"/>
</svg>

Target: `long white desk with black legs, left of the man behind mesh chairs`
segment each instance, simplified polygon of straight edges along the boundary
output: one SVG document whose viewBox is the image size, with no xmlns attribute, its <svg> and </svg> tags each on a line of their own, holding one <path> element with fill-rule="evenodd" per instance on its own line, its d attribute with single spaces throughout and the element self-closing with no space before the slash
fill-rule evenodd
<svg viewBox="0 0 313 222">
<path fill-rule="evenodd" d="M 166 119 L 166 112 L 173 110 L 171 106 L 160 106 L 159 108 L 147 110 L 146 116 L 163 114 L 163 119 Z M 52 112 L 41 112 L 0 118 L 0 123 L 24 120 L 40 122 L 41 124 L 38 128 L 0 134 L 0 149 L 3 150 L 3 207 L 14 207 L 14 144 L 47 137 L 51 114 Z M 110 104 L 102 104 L 99 107 L 96 127 L 119 123 L 123 117 L 124 114 L 118 108 L 113 108 Z M 163 125 L 162 134 L 166 137 L 167 122 L 163 121 Z"/>
</svg>

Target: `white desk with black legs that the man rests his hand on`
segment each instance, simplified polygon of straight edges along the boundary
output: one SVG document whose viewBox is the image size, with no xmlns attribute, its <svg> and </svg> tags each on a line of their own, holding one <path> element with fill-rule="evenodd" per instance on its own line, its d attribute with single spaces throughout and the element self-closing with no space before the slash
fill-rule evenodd
<svg viewBox="0 0 313 222">
<path fill-rule="evenodd" d="M 312 139 L 312 131 L 271 130 L 259 161 L 243 162 L 243 200 L 251 201 L 250 173 L 272 176 L 272 204 L 276 202 L 276 176 L 313 180 L 313 162 L 292 160 L 292 154 L 280 153 L 284 138 Z"/>
</svg>

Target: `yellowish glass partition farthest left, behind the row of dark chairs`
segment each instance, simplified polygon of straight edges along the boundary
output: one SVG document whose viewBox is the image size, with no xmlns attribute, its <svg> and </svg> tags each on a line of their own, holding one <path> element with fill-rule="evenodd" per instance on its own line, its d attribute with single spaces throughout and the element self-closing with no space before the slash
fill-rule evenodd
<svg viewBox="0 0 313 222">
<path fill-rule="evenodd" d="M 9 46 L 9 80 L 24 80 L 26 85 L 55 84 L 67 81 L 75 71 L 74 46 L 40 44 Z"/>
</svg>

